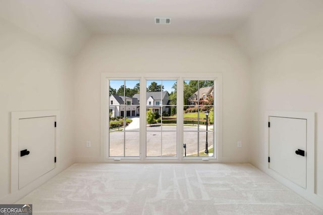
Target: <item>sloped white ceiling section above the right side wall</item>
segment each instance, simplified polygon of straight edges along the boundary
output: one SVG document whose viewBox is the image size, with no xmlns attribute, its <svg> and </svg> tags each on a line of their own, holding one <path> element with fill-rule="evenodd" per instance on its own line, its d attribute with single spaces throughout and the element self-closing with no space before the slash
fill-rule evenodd
<svg viewBox="0 0 323 215">
<path fill-rule="evenodd" d="M 256 56 L 323 24 L 321 0 L 264 1 L 235 38 L 246 53 Z"/>
</svg>

